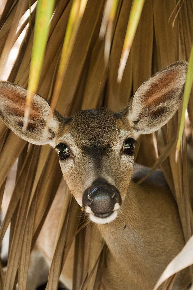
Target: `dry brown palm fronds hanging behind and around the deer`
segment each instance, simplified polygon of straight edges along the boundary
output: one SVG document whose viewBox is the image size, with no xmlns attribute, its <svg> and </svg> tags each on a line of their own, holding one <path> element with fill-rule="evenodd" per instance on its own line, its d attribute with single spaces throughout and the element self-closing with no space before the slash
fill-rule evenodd
<svg viewBox="0 0 193 290">
<path fill-rule="evenodd" d="M 34 2 L 31 0 L 31 5 Z M 174 61 L 188 61 L 193 43 L 193 2 L 181 1 L 180 9 L 179 5 L 176 7 L 177 2 L 175 0 L 145 1 L 123 79 L 118 84 L 117 71 L 132 1 L 118 1 L 110 61 L 109 66 L 105 67 L 104 41 L 99 39 L 105 1 L 88 0 L 56 109 L 67 116 L 80 109 L 101 106 L 115 111 L 121 110 L 140 84 L 153 73 Z M 27 15 L 23 23 L 19 22 L 19 19 L 28 10 L 28 5 L 28 0 L 8 0 L 0 19 L 0 64 L 3 64 L 5 55 L 8 55 L 12 45 L 24 30 L 22 36 L 24 38 L 10 75 L 6 76 L 5 71 L 1 70 L 1 79 L 7 79 L 24 87 L 28 86 L 36 8 L 31 12 L 30 19 Z M 70 0 L 56 1 L 55 12 L 51 19 L 37 89 L 37 93 L 49 103 L 53 96 L 71 5 Z M 168 22 L 173 10 L 174 13 Z M 174 27 L 172 27 L 174 18 Z M 17 30 L 18 25 L 19 30 Z M 135 159 L 140 164 L 153 166 L 153 169 L 161 166 L 178 203 L 185 241 L 193 234 L 190 203 L 193 188 L 193 94 L 187 112 L 187 136 L 183 135 L 177 163 L 175 143 L 181 108 L 159 132 L 140 137 L 135 151 Z M 0 229 L 1 244 L 10 223 L 10 251 L 6 276 L 0 263 L 0 289 L 4 290 L 14 289 L 17 279 L 19 289 L 25 289 L 30 251 L 62 180 L 58 158 L 53 149 L 49 146 L 27 144 L 0 120 L 0 205 L 7 175 L 17 158 L 16 181 Z M 84 216 L 81 215 L 80 207 L 68 190 L 64 199 L 60 224 L 58 229 L 55 229 L 56 247 L 47 289 L 57 289 L 62 266 L 74 239 L 73 290 L 98 289 L 106 248 L 96 227 L 91 223 L 87 224 Z"/>
</svg>

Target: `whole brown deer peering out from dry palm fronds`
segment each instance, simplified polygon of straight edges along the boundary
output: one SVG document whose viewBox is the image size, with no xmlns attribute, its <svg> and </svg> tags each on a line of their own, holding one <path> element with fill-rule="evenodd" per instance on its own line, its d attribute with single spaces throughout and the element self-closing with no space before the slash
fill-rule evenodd
<svg viewBox="0 0 193 290">
<path fill-rule="evenodd" d="M 97 108 L 64 117 L 53 110 L 48 118 L 48 102 L 34 94 L 25 131 L 27 90 L 0 82 L 1 119 L 22 139 L 56 150 L 70 192 L 107 245 L 100 290 L 153 289 L 185 244 L 176 201 L 160 171 L 141 185 L 131 177 L 137 138 L 174 116 L 183 99 L 187 66 L 178 61 L 158 71 L 116 113 Z M 62 271 L 67 287 L 65 275 Z M 189 289 L 190 283 L 185 269 L 172 289 Z"/>
</svg>

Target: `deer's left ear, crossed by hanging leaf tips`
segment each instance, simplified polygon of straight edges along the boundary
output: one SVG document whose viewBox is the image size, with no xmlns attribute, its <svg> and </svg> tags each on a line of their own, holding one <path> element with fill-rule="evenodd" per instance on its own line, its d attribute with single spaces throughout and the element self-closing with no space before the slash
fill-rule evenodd
<svg viewBox="0 0 193 290">
<path fill-rule="evenodd" d="M 50 111 L 48 102 L 40 95 L 34 94 L 30 110 L 28 128 L 23 131 L 24 109 L 27 90 L 22 86 L 6 81 L 0 82 L 0 117 L 3 122 L 19 137 L 37 145 L 55 145 L 55 136 L 65 118 L 56 110 L 44 132 Z"/>
</svg>

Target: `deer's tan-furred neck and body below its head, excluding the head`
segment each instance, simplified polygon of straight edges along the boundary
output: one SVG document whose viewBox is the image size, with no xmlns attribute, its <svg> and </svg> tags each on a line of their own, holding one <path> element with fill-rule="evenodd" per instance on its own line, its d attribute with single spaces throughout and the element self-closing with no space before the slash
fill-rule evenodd
<svg viewBox="0 0 193 290">
<path fill-rule="evenodd" d="M 131 182 L 117 219 L 98 228 L 109 248 L 101 289 L 153 289 L 184 245 L 178 209 L 165 187 Z M 189 283 L 185 270 L 178 274 L 174 289 L 185 289 Z"/>
</svg>

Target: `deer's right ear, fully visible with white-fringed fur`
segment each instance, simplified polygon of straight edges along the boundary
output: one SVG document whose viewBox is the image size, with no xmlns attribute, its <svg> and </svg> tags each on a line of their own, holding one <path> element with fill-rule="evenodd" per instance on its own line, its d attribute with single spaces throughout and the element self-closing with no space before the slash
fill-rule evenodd
<svg viewBox="0 0 193 290">
<path fill-rule="evenodd" d="M 176 113 L 184 92 L 188 63 L 175 62 L 145 81 L 121 112 L 136 137 L 152 133 Z"/>
</svg>

